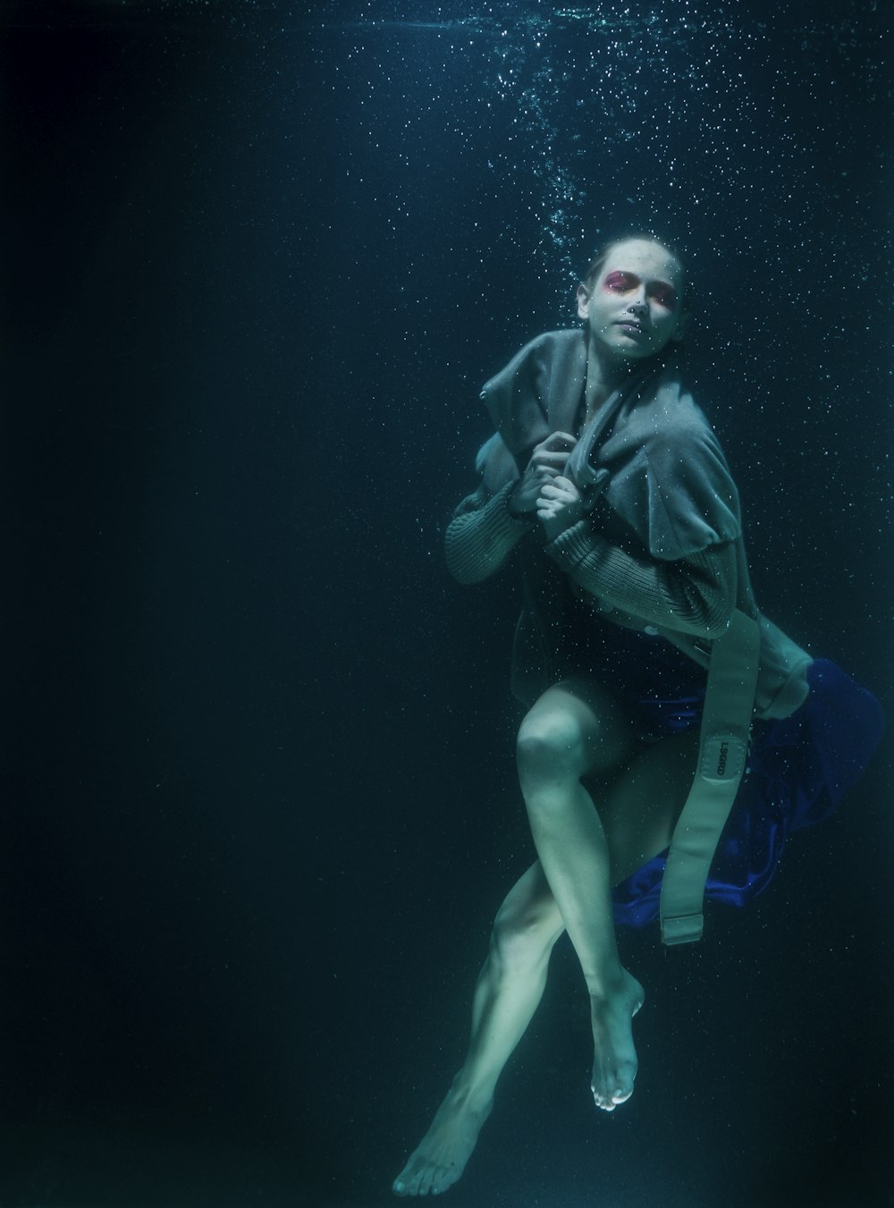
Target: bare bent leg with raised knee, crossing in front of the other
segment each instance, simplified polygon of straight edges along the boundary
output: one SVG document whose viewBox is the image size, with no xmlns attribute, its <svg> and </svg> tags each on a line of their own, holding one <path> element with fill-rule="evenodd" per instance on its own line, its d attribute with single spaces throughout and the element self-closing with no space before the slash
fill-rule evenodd
<svg viewBox="0 0 894 1208">
<path fill-rule="evenodd" d="M 548 689 L 518 733 L 518 774 L 540 864 L 590 992 L 592 1091 L 613 1111 L 633 1093 L 637 1052 L 631 1021 L 644 991 L 617 957 L 609 843 L 581 777 L 605 776 L 633 755 L 629 724 L 591 681 Z"/>
</svg>

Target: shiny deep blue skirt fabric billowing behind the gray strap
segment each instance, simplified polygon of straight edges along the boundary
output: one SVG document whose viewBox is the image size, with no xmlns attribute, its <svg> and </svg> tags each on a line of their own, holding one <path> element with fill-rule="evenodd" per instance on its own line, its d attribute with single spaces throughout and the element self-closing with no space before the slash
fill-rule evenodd
<svg viewBox="0 0 894 1208">
<path fill-rule="evenodd" d="M 675 701 L 667 691 L 635 702 L 627 697 L 652 719 L 656 737 L 661 728 L 698 724 L 699 702 L 690 673 L 683 668 L 679 673 L 684 683 Z M 788 836 L 835 809 L 881 738 L 881 705 L 840 667 L 818 658 L 808 681 L 809 696 L 790 718 L 755 722 L 745 776 L 708 878 L 706 896 L 712 901 L 743 906 L 766 889 Z M 666 861 L 663 852 L 617 885 L 616 923 L 645 927 L 658 917 Z"/>
</svg>

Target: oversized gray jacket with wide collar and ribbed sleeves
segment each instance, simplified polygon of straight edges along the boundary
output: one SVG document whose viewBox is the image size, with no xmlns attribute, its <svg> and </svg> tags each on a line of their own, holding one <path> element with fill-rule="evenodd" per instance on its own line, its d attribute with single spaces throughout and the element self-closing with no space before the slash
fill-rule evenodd
<svg viewBox="0 0 894 1208">
<path fill-rule="evenodd" d="M 522 550 L 526 603 L 513 691 L 530 703 L 548 686 L 542 639 L 558 571 L 602 618 L 657 632 L 703 667 L 712 639 L 742 609 L 761 631 L 755 713 L 794 713 L 807 696 L 811 656 L 759 612 L 736 486 L 707 418 L 673 371 L 633 374 L 580 432 L 568 476 L 580 486 L 594 470 L 610 476 L 588 517 L 545 541 L 535 518 L 509 512 L 534 446 L 551 432 L 579 430 L 585 381 L 586 337 L 573 330 L 539 336 L 484 385 L 497 431 L 478 453 L 478 489 L 447 529 L 447 563 L 460 582 L 486 579 Z"/>
</svg>

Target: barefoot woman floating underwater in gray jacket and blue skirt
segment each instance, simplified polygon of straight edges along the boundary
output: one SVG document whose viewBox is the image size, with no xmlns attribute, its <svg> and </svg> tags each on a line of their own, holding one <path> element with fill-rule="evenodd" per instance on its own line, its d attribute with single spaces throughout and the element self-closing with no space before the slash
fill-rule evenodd
<svg viewBox="0 0 894 1208">
<path fill-rule="evenodd" d="M 563 931 L 590 993 L 596 1105 L 614 1111 L 633 1093 L 644 991 L 615 922 L 657 914 L 710 643 L 736 609 L 760 625 L 756 720 L 708 896 L 759 893 L 785 835 L 834 808 L 881 733 L 875 699 L 757 610 L 735 483 L 674 370 L 686 292 L 662 243 L 611 243 L 577 289 L 584 330 L 538 337 L 482 393 L 497 432 L 448 527 L 447 563 L 471 583 L 519 551 L 512 687 L 528 707 L 518 778 L 538 860 L 498 912 L 468 1056 L 397 1195 L 437 1194 L 463 1173 Z"/>
</svg>

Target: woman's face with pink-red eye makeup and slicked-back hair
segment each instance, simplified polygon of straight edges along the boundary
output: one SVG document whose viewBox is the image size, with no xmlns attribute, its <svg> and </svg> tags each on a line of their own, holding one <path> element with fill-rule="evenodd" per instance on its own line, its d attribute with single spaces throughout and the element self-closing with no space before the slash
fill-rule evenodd
<svg viewBox="0 0 894 1208">
<path fill-rule="evenodd" d="M 627 239 L 608 255 L 592 291 L 577 289 L 577 314 L 616 364 L 645 360 L 683 339 L 684 272 L 660 243 Z"/>
</svg>

